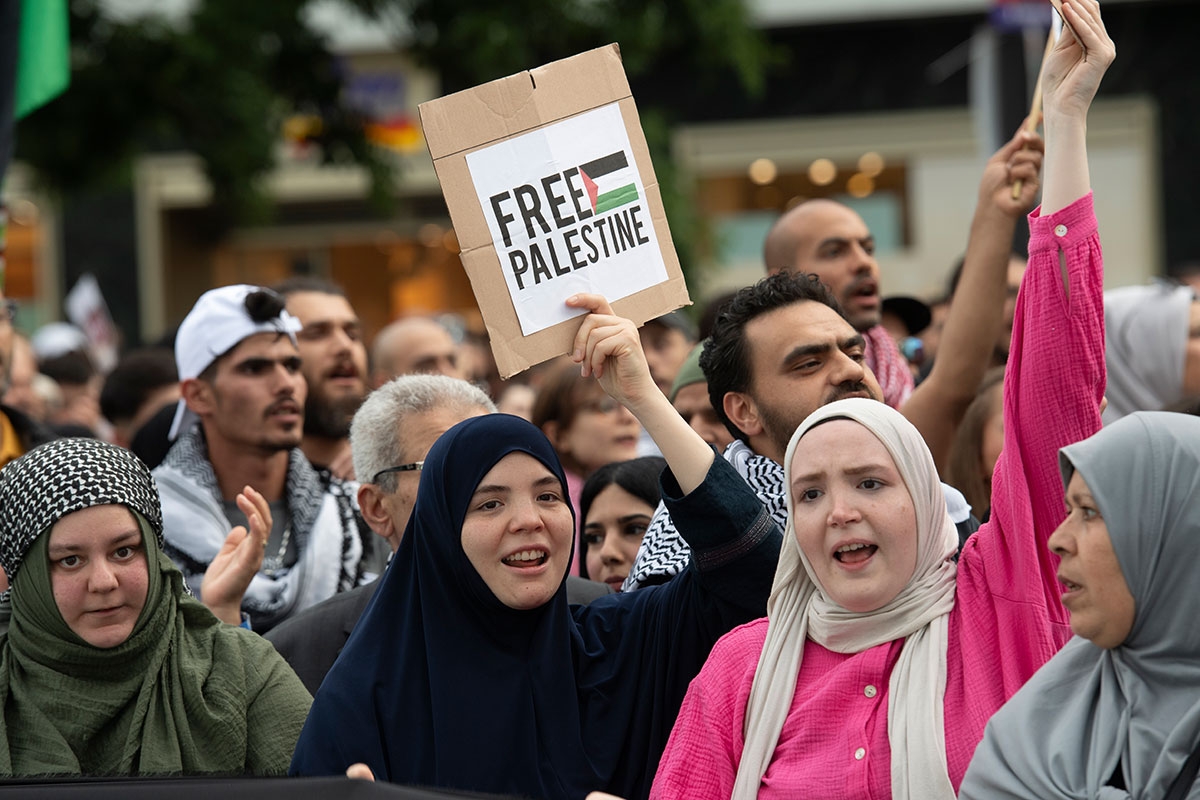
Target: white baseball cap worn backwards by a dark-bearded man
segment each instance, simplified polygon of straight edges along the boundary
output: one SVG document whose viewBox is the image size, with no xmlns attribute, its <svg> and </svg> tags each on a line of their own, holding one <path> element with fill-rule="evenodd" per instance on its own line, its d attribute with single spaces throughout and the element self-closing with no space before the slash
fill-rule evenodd
<svg viewBox="0 0 1200 800">
<path fill-rule="evenodd" d="M 287 333 L 292 343 L 296 343 L 300 320 L 287 311 L 262 321 L 251 318 L 246 297 L 256 291 L 271 290 L 239 283 L 210 289 L 200 295 L 175 333 L 175 366 L 179 368 L 180 381 L 199 377 L 210 363 L 256 333 Z M 187 403 L 180 398 L 168 438 L 174 440 L 196 419 Z"/>
</svg>

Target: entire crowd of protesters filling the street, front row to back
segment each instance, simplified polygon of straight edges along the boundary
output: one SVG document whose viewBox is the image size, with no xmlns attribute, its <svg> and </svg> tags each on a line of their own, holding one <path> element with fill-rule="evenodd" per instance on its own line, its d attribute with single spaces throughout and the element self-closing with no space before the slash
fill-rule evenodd
<svg viewBox="0 0 1200 800">
<path fill-rule="evenodd" d="M 919 365 L 830 199 L 698 324 L 568 297 L 506 383 L 311 277 L 107 374 L 0 296 L 0 783 L 1200 798 L 1200 302 L 1103 289 L 1116 50 L 1062 14 Z"/>
</svg>

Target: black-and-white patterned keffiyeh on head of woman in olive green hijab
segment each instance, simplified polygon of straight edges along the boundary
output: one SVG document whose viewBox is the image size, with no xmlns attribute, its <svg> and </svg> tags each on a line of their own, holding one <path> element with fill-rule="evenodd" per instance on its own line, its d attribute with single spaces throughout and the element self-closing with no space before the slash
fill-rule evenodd
<svg viewBox="0 0 1200 800">
<path fill-rule="evenodd" d="M 98 439 L 56 439 L 0 471 L 0 565 L 10 583 L 29 546 L 59 519 L 98 505 L 137 511 L 162 545 L 162 507 L 142 459 Z"/>
</svg>

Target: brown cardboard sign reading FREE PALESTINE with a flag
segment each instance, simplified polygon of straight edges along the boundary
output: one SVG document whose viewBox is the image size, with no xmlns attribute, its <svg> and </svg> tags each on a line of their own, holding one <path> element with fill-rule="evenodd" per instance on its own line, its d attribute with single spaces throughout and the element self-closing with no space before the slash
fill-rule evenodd
<svg viewBox="0 0 1200 800">
<path fill-rule="evenodd" d="M 690 303 L 617 46 L 420 106 L 500 375 L 570 350 L 580 291 Z"/>
</svg>

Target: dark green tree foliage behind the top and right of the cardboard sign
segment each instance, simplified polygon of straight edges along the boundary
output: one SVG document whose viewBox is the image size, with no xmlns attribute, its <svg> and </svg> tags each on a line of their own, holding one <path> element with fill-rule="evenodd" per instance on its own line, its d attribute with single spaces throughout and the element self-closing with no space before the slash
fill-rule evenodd
<svg viewBox="0 0 1200 800">
<path fill-rule="evenodd" d="M 407 20 L 404 46 L 446 92 L 617 42 L 635 98 L 656 71 L 689 76 L 688 91 L 740 86 L 758 95 L 779 61 L 749 20 L 744 0 L 352 0 L 368 14 Z M 730 76 L 737 80 L 728 80 Z M 661 92 L 655 92 L 661 94 Z M 692 193 L 671 158 L 676 120 L 666 103 L 638 102 L 671 222 L 691 271 L 704 235 Z"/>
</svg>

